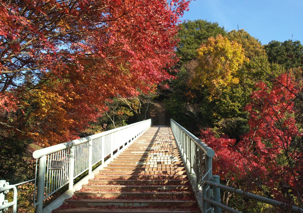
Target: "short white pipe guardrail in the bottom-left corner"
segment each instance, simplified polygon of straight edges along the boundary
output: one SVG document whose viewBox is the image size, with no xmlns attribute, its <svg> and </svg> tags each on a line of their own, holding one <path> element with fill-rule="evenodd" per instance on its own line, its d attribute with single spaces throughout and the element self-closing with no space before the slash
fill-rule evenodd
<svg viewBox="0 0 303 213">
<path fill-rule="evenodd" d="M 13 201 L 5 200 L 5 194 L 13 189 Z M 15 185 L 9 185 L 5 180 L 0 180 L 0 213 L 7 211 L 7 208 L 13 206 L 13 213 L 17 212 L 17 188 Z"/>
</svg>

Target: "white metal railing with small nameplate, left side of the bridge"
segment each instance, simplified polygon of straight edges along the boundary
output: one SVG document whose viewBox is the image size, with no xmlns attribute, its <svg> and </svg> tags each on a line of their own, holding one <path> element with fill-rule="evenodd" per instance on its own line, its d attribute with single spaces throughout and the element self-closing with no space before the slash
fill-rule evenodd
<svg viewBox="0 0 303 213">
<path fill-rule="evenodd" d="M 105 157 L 134 141 L 151 126 L 151 119 L 96 135 L 36 150 L 38 159 L 36 212 L 42 212 L 43 201 L 68 184 L 72 189 L 74 179 L 88 171 Z"/>
</svg>

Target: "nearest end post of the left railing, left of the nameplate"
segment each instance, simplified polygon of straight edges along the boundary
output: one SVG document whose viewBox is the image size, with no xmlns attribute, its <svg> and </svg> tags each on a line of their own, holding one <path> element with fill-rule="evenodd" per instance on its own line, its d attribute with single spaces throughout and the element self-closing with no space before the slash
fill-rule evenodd
<svg viewBox="0 0 303 213">
<path fill-rule="evenodd" d="M 45 188 L 46 155 L 39 159 L 36 213 L 42 213 Z"/>
</svg>

